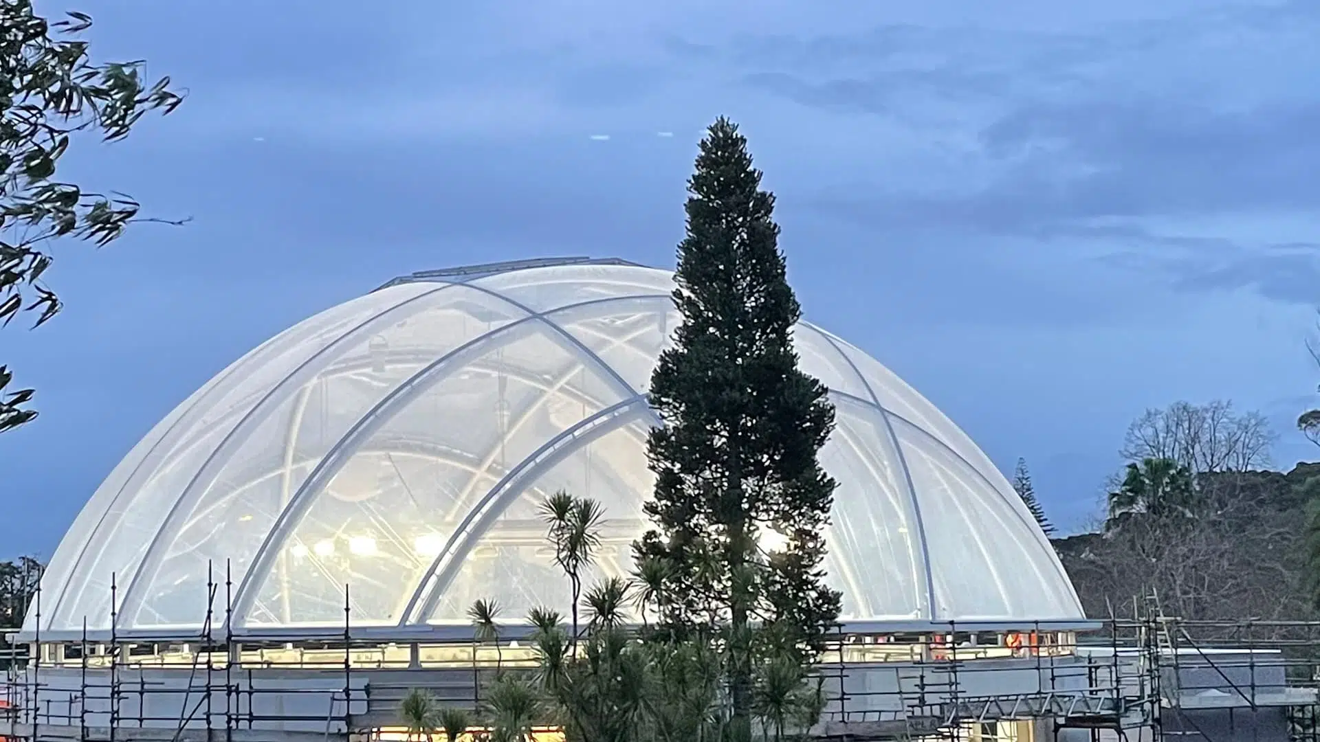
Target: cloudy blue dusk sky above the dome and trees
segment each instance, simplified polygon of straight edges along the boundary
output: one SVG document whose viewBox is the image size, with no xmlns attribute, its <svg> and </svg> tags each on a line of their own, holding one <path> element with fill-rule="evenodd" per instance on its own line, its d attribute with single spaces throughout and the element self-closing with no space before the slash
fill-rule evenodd
<svg viewBox="0 0 1320 742">
<path fill-rule="evenodd" d="M 42 12 L 66 9 L 41 3 Z M 186 227 L 54 246 L 67 302 L 0 334 L 0 556 L 49 556 L 228 362 L 392 276 L 554 255 L 672 265 L 717 115 L 779 198 L 805 314 L 894 368 L 1067 527 L 1127 422 L 1320 374 L 1320 4 L 1222 0 L 133 0 L 98 58 L 190 90 L 61 172 Z"/>
</svg>

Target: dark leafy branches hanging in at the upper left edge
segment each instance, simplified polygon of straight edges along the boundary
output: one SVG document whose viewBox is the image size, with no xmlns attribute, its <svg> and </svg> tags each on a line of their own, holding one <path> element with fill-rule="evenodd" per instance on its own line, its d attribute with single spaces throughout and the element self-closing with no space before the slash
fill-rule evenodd
<svg viewBox="0 0 1320 742">
<path fill-rule="evenodd" d="M 81 34 L 92 20 L 70 12 L 50 21 L 30 0 L 0 0 L 0 323 L 36 313 L 41 326 L 62 308 L 44 277 L 57 239 L 104 247 L 128 224 L 187 219 L 141 217 L 141 205 L 119 193 L 98 193 L 58 180 L 61 158 L 78 135 L 106 143 L 129 135 L 144 115 L 170 114 L 185 94 L 169 77 L 153 83 L 145 63 L 94 62 Z M 11 372 L 0 367 L 0 432 L 32 421 L 32 389 L 4 392 Z"/>
</svg>

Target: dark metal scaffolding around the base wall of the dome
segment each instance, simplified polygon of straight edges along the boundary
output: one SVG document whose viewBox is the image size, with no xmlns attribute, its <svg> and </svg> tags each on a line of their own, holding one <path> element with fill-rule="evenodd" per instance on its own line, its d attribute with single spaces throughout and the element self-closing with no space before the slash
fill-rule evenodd
<svg viewBox="0 0 1320 742">
<path fill-rule="evenodd" d="M 403 739 L 408 692 L 477 709 L 496 668 L 536 667 L 513 627 L 480 642 L 355 626 L 347 588 L 338 627 L 238 635 L 232 580 L 206 590 L 191 634 L 124 636 L 112 615 L 108 638 L 86 624 L 78 640 L 25 638 L 0 694 L 0 738 Z M 40 627 L 40 591 L 33 610 Z M 1081 634 L 1049 622 L 840 630 L 814 673 L 821 739 L 1320 742 L 1320 622 L 1187 621 L 1155 599 Z"/>
</svg>

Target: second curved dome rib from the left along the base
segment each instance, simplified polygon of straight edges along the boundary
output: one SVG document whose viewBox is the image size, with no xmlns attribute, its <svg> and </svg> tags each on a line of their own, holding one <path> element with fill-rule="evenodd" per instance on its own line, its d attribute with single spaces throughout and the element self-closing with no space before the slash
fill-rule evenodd
<svg viewBox="0 0 1320 742">
<path fill-rule="evenodd" d="M 165 549 L 161 548 L 162 544 L 169 544 L 169 539 L 173 539 L 178 533 L 182 519 L 187 516 L 189 511 L 191 511 L 191 508 L 197 504 L 197 500 L 206 494 L 211 481 L 219 474 L 224 463 L 228 462 L 230 457 L 234 455 L 239 448 L 242 448 L 243 442 L 246 442 L 246 434 L 265 420 L 265 417 L 259 413 L 267 412 L 272 405 L 279 407 L 292 395 L 297 393 L 304 384 L 315 379 L 317 374 L 330 366 L 333 359 L 337 358 L 335 354 L 343 350 L 346 345 L 358 342 L 363 337 L 370 337 L 380 327 L 388 327 L 399 320 L 400 314 L 407 314 L 408 309 L 416 309 L 416 305 L 422 300 L 436 296 L 453 285 L 455 284 L 441 284 L 434 289 L 392 304 L 388 308 L 372 314 L 335 338 L 333 342 L 326 343 L 289 375 L 271 387 L 271 389 L 260 400 L 257 400 L 255 405 L 252 405 L 247 415 L 238 421 L 224 438 L 220 440 L 220 442 L 215 446 L 215 450 L 211 452 L 211 454 L 202 462 L 202 466 L 198 467 L 197 473 L 183 487 L 180 496 L 176 498 L 169 514 L 161 523 L 160 529 L 147 547 L 147 553 L 143 556 L 143 561 L 139 565 L 137 572 L 128 584 L 128 589 L 124 591 L 120 617 L 127 615 L 129 617 L 128 621 L 133 621 L 133 617 L 137 614 L 137 609 L 141 607 L 144 593 L 149 589 L 156 570 L 165 558 Z"/>
</svg>

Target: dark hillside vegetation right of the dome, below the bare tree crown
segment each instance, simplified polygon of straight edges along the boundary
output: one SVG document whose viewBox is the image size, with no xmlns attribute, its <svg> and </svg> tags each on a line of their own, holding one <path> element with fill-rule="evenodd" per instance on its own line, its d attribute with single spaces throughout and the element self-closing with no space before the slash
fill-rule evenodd
<svg viewBox="0 0 1320 742">
<path fill-rule="evenodd" d="M 1129 492 L 1160 474 L 1158 461 L 1134 466 Z M 1100 532 L 1053 540 L 1086 615 L 1133 617 L 1156 595 L 1166 615 L 1192 621 L 1315 618 L 1304 544 L 1320 463 L 1184 477 L 1184 490 L 1170 477 L 1129 508 L 1111 495 Z"/>
</svg>

